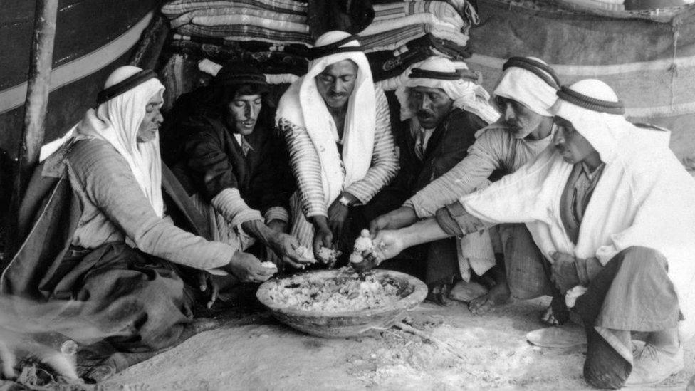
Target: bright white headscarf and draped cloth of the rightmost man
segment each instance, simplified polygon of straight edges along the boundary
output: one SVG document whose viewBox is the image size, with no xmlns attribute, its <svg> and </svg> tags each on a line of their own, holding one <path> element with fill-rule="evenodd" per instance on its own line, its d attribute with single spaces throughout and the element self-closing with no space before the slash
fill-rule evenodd
<svg viewBox="0 0 695 391">
<path fill-rule="evenodd" d="M 617 101 L 599 80 L 572 90 Z M 548 261 L 560 251 L 606 264 L 630 246 L 660 251 L 679 297 L 681 338 L 695 332 L 695 179 L 669 150 L 670 132 L 636 127 L 622 115 L 587 110 L 563 99 L 553 112 L 572 122 L 605 162 L 574 244 L 560 218 L 560 197 L 573 165 L 551 145 L 513 174 L 459 200 L 474 217 L 526 223 Z"/>
</svg>

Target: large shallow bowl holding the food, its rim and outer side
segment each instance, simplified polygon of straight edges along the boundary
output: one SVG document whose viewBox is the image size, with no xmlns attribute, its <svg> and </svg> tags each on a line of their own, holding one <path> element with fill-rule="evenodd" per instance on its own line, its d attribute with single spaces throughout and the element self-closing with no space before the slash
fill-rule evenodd
<svg viewBox="0 0 695 391">
<path fill-rule="evenodd" d="M 337 278 L 345 271 L 309 271 L 313 278 Z M 417 278 L 390 270 L 374 270 L 377 278 L 391 278 L 399 285 L 400 299 L 392 306 L 360 311 L 307 311 L 281 306 L 270 297 L 270 290 L 281 280 L 273 278 L 261 284 L 256 292 L 258 300 L 282 323 L 310 335 L 323 338 L 345 338 L 369 333 L 375 328 L 389 328 L 402 314 L 416 307 L 427 296 L 427 286 Z"/>
</svg>

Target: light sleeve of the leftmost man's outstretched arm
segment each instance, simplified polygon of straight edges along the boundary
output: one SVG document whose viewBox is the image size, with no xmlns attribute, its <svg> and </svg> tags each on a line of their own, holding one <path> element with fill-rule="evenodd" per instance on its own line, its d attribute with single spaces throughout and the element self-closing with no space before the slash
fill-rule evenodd
<svg viewBox="0 0 695 391">
<path fill-rule="evenodd" d="M 73 245 L 95 249 L 130 238 L 147 254 L 195 269 L 224 266 L 237 250 L 157 217 L 127 162 L 107 142 L 76 142 L 67 164 L 70 183 L 83 209 Z"/>
</svg>

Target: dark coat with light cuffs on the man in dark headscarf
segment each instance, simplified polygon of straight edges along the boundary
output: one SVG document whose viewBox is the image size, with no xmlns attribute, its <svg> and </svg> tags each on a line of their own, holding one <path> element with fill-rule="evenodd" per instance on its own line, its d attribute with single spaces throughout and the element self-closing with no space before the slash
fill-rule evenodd
<svg viewBox="0 0 695 391">
<path fill-rule="evenodd" d="M 202 195 L 233 226 L 261 219 L 261 214 L 288 221 L 293 184 L 283 142 L 271 128 L 256 125 L 245 140 L 251 150 L 244 153 L 219 118 L 194 115 L 180 127 L 187 136 L 174 172 L 189 190 Z"/>
</svg>

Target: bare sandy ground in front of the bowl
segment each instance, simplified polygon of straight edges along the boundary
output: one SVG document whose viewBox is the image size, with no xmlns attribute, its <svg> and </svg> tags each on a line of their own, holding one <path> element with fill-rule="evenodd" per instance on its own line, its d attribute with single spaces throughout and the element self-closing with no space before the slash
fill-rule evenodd
<svg viewBox="0 0 695 391">
<path fill-rule="evenodd" d="M 267 314 L 254 324 L 200 333 L 101 383 L 101 390 L 583 390 L 583 348 L 538 348 L 526 342 L 547 301 L 512 303 L 486 316 L 465 305 L 423 303 L 407 313 L 414 327 L 451 350 L 396 328 L 360 338 L 324 339 Z M 659 385 L 684 390 L 686 369 Z"/>
</svg>

